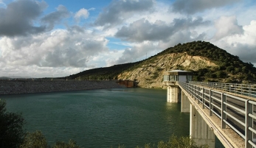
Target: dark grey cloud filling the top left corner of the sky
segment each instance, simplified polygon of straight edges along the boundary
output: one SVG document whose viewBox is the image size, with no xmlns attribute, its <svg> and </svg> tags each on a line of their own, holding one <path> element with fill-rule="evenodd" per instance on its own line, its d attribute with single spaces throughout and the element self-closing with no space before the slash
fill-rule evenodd
<svg viewBox="0 0 256 148">
<path fill-rule="evenodd" d="M 44 1 L 18 0 L 0 8 L 0 35 L 15 36 L 44 32 L 44 26 L 33 23 L 41 15 L 47 4 Z"/>
</svg>

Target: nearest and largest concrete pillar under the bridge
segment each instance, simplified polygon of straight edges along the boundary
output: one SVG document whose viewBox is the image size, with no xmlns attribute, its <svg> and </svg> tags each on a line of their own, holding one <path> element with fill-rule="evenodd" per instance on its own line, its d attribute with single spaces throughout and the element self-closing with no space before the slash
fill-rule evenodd
<svg viewBox="0 0 256 148">
<path fill-rule="evenodd" d="M 215 134 L 193 105 L 190 105 L 190 136 L 196 144 L 215 147 Z"/>
</svg>

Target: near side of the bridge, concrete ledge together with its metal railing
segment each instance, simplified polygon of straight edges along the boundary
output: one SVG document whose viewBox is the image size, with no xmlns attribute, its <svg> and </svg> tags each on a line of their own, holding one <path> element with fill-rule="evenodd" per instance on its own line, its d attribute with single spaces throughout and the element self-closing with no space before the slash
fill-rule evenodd
<svg viewBox="0 0 256 148">
<path fill-rule="evenodd" d="M 233 96 L 230 93 L 226 94 L 225 91 L 216 89 L 213 91 L 213 89 L 182 82 L 179 82 L 179 87 L 225 147 L 252 147 L 249 143 L 252 143 L 252 137 L 255 134 L 252 134 L 253 131 L 248 128 L 252 127 L 252 130 L 256 130 L 256 124 L 253 118 L 246 116 L 246 113 L 247 115 L 256 113 L 254 105 L 251 105 L 251 112 L 248 112 L 247 107 L 248 99 L 255 100 L 255 98 L 238 98 L 241 95 Z M 222 128 L 222 125 L 226 127 Z M 246 143 L 245 139 L 249 142 Z M 254 144 L 252 145 L 255 147 Z"/>
</svg>

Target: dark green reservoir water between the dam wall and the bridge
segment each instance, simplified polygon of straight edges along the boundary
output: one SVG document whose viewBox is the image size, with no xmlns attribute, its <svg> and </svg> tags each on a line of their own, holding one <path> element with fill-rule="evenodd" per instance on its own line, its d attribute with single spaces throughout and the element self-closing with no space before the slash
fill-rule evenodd
<svg viewBox="0 0 256 148">
<path fill-rule="evenodd" d="M 0 97 L 7 111 L 22 113 L 29 132 L 41 130 L 49 144 L 80 147 L 142 147 L 189 135 L 190 114 L 166 102 L 166 90 L 118 88 Z M 217 141 L 216 147 L 221 146 Z"/>
</svg>

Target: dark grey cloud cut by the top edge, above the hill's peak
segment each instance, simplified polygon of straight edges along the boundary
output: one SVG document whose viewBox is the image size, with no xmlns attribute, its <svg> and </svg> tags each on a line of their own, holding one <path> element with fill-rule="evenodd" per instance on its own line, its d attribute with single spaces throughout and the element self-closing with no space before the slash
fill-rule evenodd
<svg viewBox="0 0 256 148">
<path fill-rule="evenodd" d="M 234 4 L 241 0 L 176 0 L 170 7 L 174 13 L 194 14 L 215 7 L 224 7 L 227 4 Z"/>
</svg>

